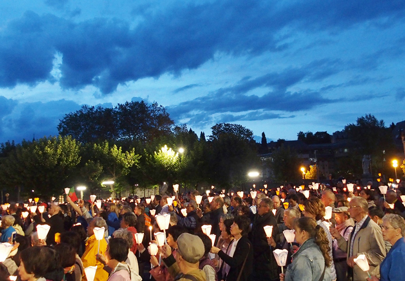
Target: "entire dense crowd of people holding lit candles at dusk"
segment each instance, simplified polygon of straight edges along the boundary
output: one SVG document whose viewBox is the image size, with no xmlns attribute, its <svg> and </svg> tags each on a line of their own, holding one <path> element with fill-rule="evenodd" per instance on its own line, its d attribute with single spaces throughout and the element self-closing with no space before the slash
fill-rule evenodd
<svg viewBox="0 0 405 281">
<path fill-rule="evenodd" d="M 384 195 L 372 183 L 311 187 L 9 204 L 0 240 L 13 248 L 0 280 L 93 281 L 90 267 L 96 281 L 405 279 L 401 183 Z M 159 214 L 170 214 L 168 226 Z"/>
</svg>

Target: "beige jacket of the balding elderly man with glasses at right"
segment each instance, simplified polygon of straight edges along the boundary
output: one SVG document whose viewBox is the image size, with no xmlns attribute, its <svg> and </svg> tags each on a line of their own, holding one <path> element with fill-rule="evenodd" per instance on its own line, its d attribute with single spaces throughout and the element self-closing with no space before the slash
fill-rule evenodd
<svg viewBox="0 0 405 281">
<path fill-rule="evenodd" d="M 351 232 L 349 240 L 346 241 L 343 237 L 338 239 L 339 248 L 349 253 L 350 242 L 354 235 L 354 229 Z M 377 223 L 372 221 L 370 217 L 367 217 L 366 221 L 360 227 L 360 230 L 356 233 L 353 244 L 353 256 L 364 254 L 370 265 L 370 275 L 380 276 L 380 263 L 385 258 L 385 244 L 381 227 Z M 348 257 L 349 258 L 349 257 Z M 353 281 L 366 280 L 369 277 L 367 272 L 362 271 L 360 267 L 354 265 L 353 267 Z"/>
</svg>

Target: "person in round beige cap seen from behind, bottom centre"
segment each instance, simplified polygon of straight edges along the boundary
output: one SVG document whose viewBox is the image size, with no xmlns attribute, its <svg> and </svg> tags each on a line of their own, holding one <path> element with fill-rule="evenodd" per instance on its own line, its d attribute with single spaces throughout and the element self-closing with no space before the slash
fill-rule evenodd
<svg viewBox="0 0 405 281">
<path fill-rule="evenodd" d="M 183 233 L 177 239 L 177 253 L 173 256 L 169 245 L 163 250 L 163 259 L 174 280 L 206 281 L 206 274 L 198 269 L 199 260 L 204 255 L 204 243 L 195 235 Z"/>
</svg>

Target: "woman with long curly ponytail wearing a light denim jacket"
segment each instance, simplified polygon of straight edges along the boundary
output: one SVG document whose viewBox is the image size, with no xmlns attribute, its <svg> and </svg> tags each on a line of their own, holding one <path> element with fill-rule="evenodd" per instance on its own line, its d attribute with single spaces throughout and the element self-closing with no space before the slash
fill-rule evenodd
<svg viewBox="0 0 405 281">
<path fill-rule="evenodd" d="M 316 221 L 310 217 L 299 218 L 295 223 L 295 238 L 301 246 L 293 254 L 293 262 L 281 273 L 280 281 L 331 281 L 332 264 L 329 255 L 329 241 L 326 233 Z"/>
</svg>

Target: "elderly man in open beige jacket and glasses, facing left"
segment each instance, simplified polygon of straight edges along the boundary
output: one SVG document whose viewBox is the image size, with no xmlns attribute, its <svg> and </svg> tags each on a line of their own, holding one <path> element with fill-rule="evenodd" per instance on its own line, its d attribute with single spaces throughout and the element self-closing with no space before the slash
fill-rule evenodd
<svg viewBox="0 0 405 281">
<path fill-rule="evenodd" d="M 378 265 L 386 254 L 381 228 L 368 216 L 368 206 L 367 200 L 362 197 L 353 197 L 349 202 L 349 214 L 356 224 L 348 241 L 340 235 L 338 229 L 331 228 L 332 235 L 338 240 L 339 248 L 347 253 L 348 275 L 353 277 L 353 281 L 366 280 L 368 277 L 367 272 L 361 270 L 354 262 L 358 255 L 366 255 L 370 274 L 377 276 Z"/>
</svg>

